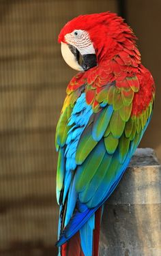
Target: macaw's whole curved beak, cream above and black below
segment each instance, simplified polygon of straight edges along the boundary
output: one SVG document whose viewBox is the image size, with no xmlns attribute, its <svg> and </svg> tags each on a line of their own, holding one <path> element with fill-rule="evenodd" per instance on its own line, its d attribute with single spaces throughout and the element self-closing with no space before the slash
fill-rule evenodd
<svg viewBox="0 0 161 256">
<path fill-rule="evenodd" d="M 86 71 L 97 66 L 96 54 L 81 55 L 79 51 L 70 44 L 61 42 L 61 53 L 65 62 L 74 70 Z"/>
</svg>

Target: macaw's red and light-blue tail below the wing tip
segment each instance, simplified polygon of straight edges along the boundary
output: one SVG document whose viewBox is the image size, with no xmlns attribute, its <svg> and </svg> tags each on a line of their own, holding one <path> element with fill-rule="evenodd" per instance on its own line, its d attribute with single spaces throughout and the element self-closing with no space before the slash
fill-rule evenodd
<svg viewBox="0 0 161 256">
<path fill-rule="evenodd" d="M 61 256 L 98 256 L 100 239 L 100 222 L 102 210 L 99 208 L 91 220 L 68 242 L 61 246 Z M 94 223 L 92 225 L 92 221 Z"/>
</svg>

